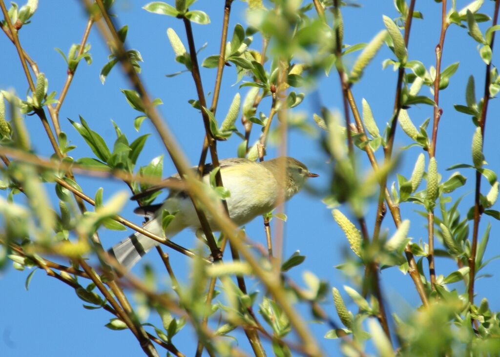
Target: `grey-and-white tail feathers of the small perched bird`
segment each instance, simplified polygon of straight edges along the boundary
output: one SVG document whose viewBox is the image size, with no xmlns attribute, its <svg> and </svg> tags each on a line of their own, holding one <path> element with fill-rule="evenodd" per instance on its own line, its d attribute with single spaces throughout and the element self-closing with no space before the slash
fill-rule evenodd
<svg viewBox="0 0 500 357">
<path fill-rule="evenodd" d="M 144 229 L 158 236 L 163 236 L 161 224 L 158 218 L 154 218 L 144 225 Z M 171 223 L 174 223 L 173 221 Z M 180 229 L 175 229 L 175 224 L 169 225 L 166 236 L 171 238 L 174 234 L 178 233 Z M 157 246 L 159 243 L 154 239 L 146 237 L 138 232 L 128 236 L 118 244 L 115 244 L 108 253 L 113 255 L 116 260 L 125 268 L 130 270 L 140 258 L 149 252 L 151 248 Z"/>
</svg>

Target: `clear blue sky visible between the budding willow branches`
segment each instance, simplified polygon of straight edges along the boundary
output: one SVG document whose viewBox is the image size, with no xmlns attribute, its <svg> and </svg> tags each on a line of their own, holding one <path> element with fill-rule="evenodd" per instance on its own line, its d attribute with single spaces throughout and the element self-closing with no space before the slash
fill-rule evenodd
<svg viewBox="0 0 500 357">
<path fill-rule="evenodd" d="M 184 73 L 173 78 L 167 78 L 164 74 L 181 70 L 181 65 L 174 62 L 174 54 L 166 37 L 166 28 L 172 27 L 185 42 L 182 22 L 173 17 L 159 16 L 148 13 L 141 9 L 147 1 L 116 0 L 114 12 L 117 13 L 117 22 L 128 25 L 127 44 L 131 48 L 140 51 L 144 62 L 141 63 L 143 79 L 147 90 L 152 97 L 159 97 L 163 105 L 159 106 L 163 117 L 177 136 L 178 141 L 191 163 L 197 163 L 202 145 L 204 129 L 201 116 L 188 103 L 188 99 L 195 97 L 194 84 L 189 73 Z M 465 5 L 467 1 L 457 1 L 457 7 Z M 383 28 L 382 14 L 395 17 L 396 11 L 392 1 L 359 1 L 360 8 L 345 7 L 343 9 L 345 30 L 345 43 L 354 44 L 367 42 L 372 34 Z M 481 12 L 492 14 L 493 1 L 485 1 Z M 202 58 L 218 52 L 220 24 L 222 16 L 223 1 L 197 1 L 193 8 L 204 10 L 211 18 L 209 25 L 193 24 L 196 47 L 207 43 L 206 48 L 200 52 Z M 232 29 L 236 23 L 245 23 L 246 4 L 235 0 L 232 7 L 229 28 Z M 409 58 L 422 61 L 428 68 L 435 65 L 434 47 L 438 41 L 440 27 L 440 4 L 434 1 L 417 1 L 416 9 L 424 15 L 424 20 L 415 19 L 411 28 L 409 41 Z M 312 11 L 310 12 L 312 13 Z M 20 31 L 20 41 L 24 49 L 37 62 L 41 71 L 48 78 L 49 91 L 59 91 L 66 77 L 66 69 L 62 57 L 53 50 L 59 47 L 63 52 L 72 43 L 78 43 L 86 22 L 86 16 L 78 1 L 58 1 L 57 4 L 50 1 L 40 1 L 37 12 L 32 18 L 32 23 L 26 25 Z M 489 25 L 489 24 L 488 24 Z M 481 28 L 484 24 L 481 24 Z M 232 32 L 232 30 L 230 31 Z M 114 141 L 114 129 L 111 119 L 114 120 L 127 135 L 129 140 L 151 132 L 146 146 L 139 157 L 138 164 L 147 164 L 152 158 L 165 154 L 164 176 L 174 172 L 174 167 L 168 160 L 164 147 L 158 136 L 154 133 L 152 126 L 145 121 L 137 133 L 133 128 L 133 118 L 137 116 L 125 102 L 120 88 L 130 88 L 118 67 L 114 68 L 106 79 L 104 85 L 99 80 L 99 71 L 107 61 L 108 50 L 102 42 L 96 28 L 93 28 L 88 43 L 91 44 L 90 53 L 93 63 L 88 66 L 80 63 L 67 98 L 61 111 L 61 128 L 67 133 L 72 143 L 77 146 L 74 156 L 92 156 L 90 149 L 83 139 L 76 133 L 74 128 L 65 118 L 77 120 L 81 115 L 89 123 L 90 127 L 99 132 L 107 141 L 108 146 Z M 256 38 L 254 46 L 259 49 L 259 40 Z M 451 78 L 450 86 L 441 92 L 441 107 L 443 116 L 439 124 L 438 143 L 436 158 L 438 168 L 444 178 L 450 172 L 444 168 L 455 163 L 470 163 L 470 142 L 474 126 L 468 116 L 456 112 L 453 104 L 465 102 L 464 91 L 467 78 L 473 74 L 476 80 L 476 96 L 482 95 L 484 82 L 484 63 L 481 61 L 475 49 L 476 42 L 467 35 L 466 29 L 451 26 L 447 31 L 443 51 L 442 66 L 459 61 L 460 65 L 456 74 Z M 21 96 L 26 93 L 27 83 L 22 72 L 14 46 L 4 36 L 0 36 L 0 88 L 13 88 Z M 493 51 L 493 64 L 495 64 L 497 49 Z M 353 86 L 353 93 L 358 105 L 361 98 L 369 102 L 375 120 L 380 128 L 392 113 L 394 89 L 396 83 L 396 72 L 391 68 L 381 69 L 381 62 L 391 57 L 392 53 L 387 48 L 382 48 L 379 54 L 365 71 L 362 80 Z M 345 58 L 347 65 L 352 64 L 356 54 Z M 215 77 L 214 69 L 203 69 L 201 72 L 205 94 L 213 90 Z M 235 82 L 235 71 L 233 67 L 226 67 L 222 82 L 222 90 L 218 104 L 217 118 L 222 118 L 230 101 L 236 92 L 242 97 L 247 88 L 238 89 Z M 422 88 L 421 94 L 429 95 L 427 88 Z M 312 89 L 310 100 L 305 100 L 297 111 L 304 112 L 309 123 L 313 124 L 312 113 L 318 112 L 317 100 L 331 110 L 341 110 L 341 96 L 339 92 L 338 76 L 333 71 L 329 77 L 318 78 L 316 88 Z M 211 96 L 208 97 L 211 100 Z M 269 103 L 262 102 L 260 110 L 268 112 Z M 495 150 L 495 138 L 493 133 L 500 129 L 500 123 L 496 119 L 498 113 L 497 100 L 492 100 L 488 109 L 488 120 L 486 124 L 484 152 L 489 168 L 496 170 L 500 163 L 498 151 Z M 408 111 L 413 122 L 419 125 L 424 119 L 432 115 L 432 108 L 427 105 L 418 105 Z M 220 120 L 220 119 L 219 119 Z M 26 125 L 32 135 L 35 152 L 43 157 L 51 155 L 51 147 L 42 132 L 42 127 L 37 117 L 26 117 Z M 241 129 L 241 124 L 237 123 Z M 319 130 L 318 130 L 319 133 Z M 258 133 L 254 132 L 254 138 Z M 236 156 L 236 148 L 239 139 L 234 135 L 227 142 L 218 145 L 220 158 Z M 409 139 L 398 128 L 395 139 L 395 148 L 409 144 Z M 317 137 L 304 135 L 303 133 L 291 132 L 288 142 L 289 156 L 293 156 L 304 162 L 312 172 L 320 174 L 320 178 L 310 182 L 315 188 L 324 190 L 329 181 L 330 166 L 326 164 L 326 157 L 321 151 Z M 404 151 L 399 172 L 409 177 L 411 169 L 420 150 L 416 147 Z M 270 151 L 269 157 L 274 154 Z M 380 154 L 380 152 L 378 152 Z M 359 153 L 360 170 L 368 172 L 369 166 L 364 155 Z M 466 214 L 468 207 L 473 202 L 473 171 L 461 169 L 461 173 L 468 179 L 467 184 L 457 190 L 452 197 L 460 195 L 465 197 L 460 205 L 461 215 Z M 113 193 L 126 189 L 119 181 L 106 182 L 98 179 L 78 177 L 78 183 L 84 192 L 93 196 L 99 187 L 104 187 L 104 198 L 109 198 Z M 393 178 L 390 180 L 390 182 Z M 483 191 L 488 189 L 483 180 Z M 51 199 L 56 202 L 53 187 L 48 187 Z M 487 192 L 487 191 L 486 191 Z M 164 197 L 161 195 L 160 197 Z M 334 266 L 340 264 L 347 244 L 343 233 L 333 221 L 330 211 L 321 202 L 321 195 L 312 195 L 301 192 L 286 205 L 288 221 L 285 223 L 285 245 L 284 256 L 291 255 L 299 250 L 307 258 L 299 267 L 292 270 L 291 277 L 303 285 L 301 275 L 303 271 L 311 271 L 319 278 L 326 280 L 330 285 L 337 287 L 341 292 L 341 286 L 349 284 Z M 16 197 L 17 202 L 24 202 L 23 197 Z M 141 219 L 133 215 L 134 205 L 132 202 L 123 209 L 122 215 L 135 223 Z M 372 231 L 374 222 L 375 206 L 367 207 L 366 217 L 368 230 Z M 494 207 L 493 207 L 494 208 Z M 414 241 L 426 240 L 425 219 L 415 214 L 420 206 L 405 203 L 401 206 L 403 218 L 411 220 L 410 236 Z M 341 210 L 348 214 L 347 207 Z M 482 236 L 489 217 L 484 216 L 481 220 L 479 237 Z M 496 222 L 490 235 L 490 243 L 485 258 L 494 256 L 500 244 L 495 240 L 498 234 Z M 387 217 L 384 221 L 385 229 L 389 234 L 394 231 L 391 219 Z M 246 231 L 252 240 L 265 244 L 264 231 L 260 219 L 246 226 Z M 123 232 L 102 231 L 101 239 L 106 247 L 112 246 L 126 235 Z M 183 232 L 176 236 L 175 242 L 187 247 L 195 246 L 195 239 L 191 232 Z M 161 262 L 154 253 L 144 258 L 153 267 L 157 268 L 160 280 L 164 283 L 166 275 L 161 269 Z M 184 256 L 175 252 L 171 253 L 172 265 L 174 267 L 186 267 L 189 261 Z M 426 263 L 424 263 L 426 266 Z M 437 259 L 437 274 L 447 275 L 454 268 L 453 264 L 443 259 Z M 494 273 L 500 266 L 493 261 L 487 268 L 488 273 Z M 134 272 L 140 274 L 140 267 Z M 181 280 L 188 280 L 188 269 L 178 269 L 176 274 Z M 28 292 L 24 289 L 24 279 L 28 272 L 18 272 L 10 267 L 0 273 L 0 354 L 9 357 L 21 357 L 31 354 L 41 356 L 104 356 L 122 355 L 135 356 L 142 352 L 128 331 L 110 331 L 103 327 L 111 316 L 105 311 L 87 311 L 81 307 L 81 301 L 76 298 L 74 292 L 60 282 L 50 279 L 41 271 L 35 273 Z M 408 306 L 418 305 L 419 299 L 408 276 L 402 275 L 396 268 L 384 270 L 381 281 L 386 297 L 387 305 L 393 312 L 404 315 Z M 496 295 L 495 286 L 498 277 L 480 279 L 476 284 L 477 298 L 493 298 Z M 250 288 L 255 285 L 248 284 Z M 454 284 L 460 292 L 463 286 Z M 261 289 L 260 289 L 261 290 Z M 345 296 L 345 295 L 344 295 Z M 330 295 L 324 306 L 329 315 L 336 318 Z M 348 301 L 348 300 L 347 300 Z M 407 305 L 406 305 L 407 304 Z M 497 299 L 490 300 L 492 309 L 500 308 Z M 353 304 L 348 305 L 354 311 L 357 310 Z M 302 310 L 304 316 L 309 319 L 306 309 Z M 317 336 L 325 351 L 335 351 L 337 344 L 331 340 L 324 340 L 323 335 L 328 328 L 324 325 L 314 324 L 313 332 Z M 192 331 L 185 329 L 174 340 L 175 345 L 187 355 L 192 355 L 195 345 L 192 343 Z M 240 341 L 240 348 L 248 351 L 249 347 L 244 340 Z"/>
</svg>

